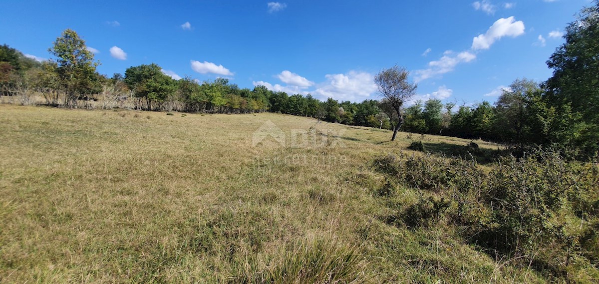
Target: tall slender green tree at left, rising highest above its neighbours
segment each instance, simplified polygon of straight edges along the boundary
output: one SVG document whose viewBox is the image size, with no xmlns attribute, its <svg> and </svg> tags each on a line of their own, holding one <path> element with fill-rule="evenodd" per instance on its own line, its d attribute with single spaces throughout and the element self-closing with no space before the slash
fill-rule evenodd
<svg viewBox="0 0 599 284">
<path fill-rule="evenodd" d="M 65 92 L 64 107 L 74 107 L 81 95 L 99 92 L 99 62 L 94 61 L 93 53 L 77 32 L 66 29 L 48 51 L 56 57 L 59 86 Z"/>
</svg>

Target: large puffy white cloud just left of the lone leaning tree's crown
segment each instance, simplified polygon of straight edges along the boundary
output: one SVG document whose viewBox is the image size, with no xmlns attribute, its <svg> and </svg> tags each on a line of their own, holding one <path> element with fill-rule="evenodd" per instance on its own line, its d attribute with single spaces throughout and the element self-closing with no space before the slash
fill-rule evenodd
<svg viewBox="0 0 599 284">
<path fill-rule="evenodd" d="M 322 98 L 334 98 L 340 101 L 362 101 L 377 87 L 374 75 L 367 72 L 350 71 L 347 74 L 325 75 L 326 81 L 314 90 Z"/>
</svg>

